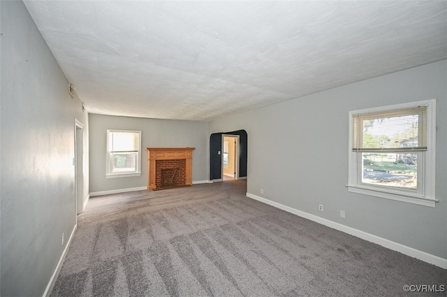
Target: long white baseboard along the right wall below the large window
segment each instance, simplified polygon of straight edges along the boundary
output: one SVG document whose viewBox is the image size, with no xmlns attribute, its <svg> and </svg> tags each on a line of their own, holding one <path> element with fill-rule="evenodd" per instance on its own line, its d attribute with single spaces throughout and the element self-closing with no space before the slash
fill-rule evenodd
<svg viewBox="0 0 447 297">
<path fill-rule="evenodd" d="M 348 233 L 352 236 L 356 236 L 358 238 L 362 238 L 363 240 L 367 240 L 369 242 L 376 243 L 377 245 L 381 245 L 382 247 L 386 247 L 388 249 L 392 249 L 396 252 L 401 252 L 402 254 L 406 254 L 407 256 L 411 256 L 413 258 L 419 259 L 421 261 L 433 264 L 435 266 L 447 269 L 447 259 L 443 259 L 439 256 L 434 256 L 432 254 L 428 254 L 426 252 L 422 252 L 418 249 L 413 249 L 413 247 L 407 247 L 406 245 L 402 245 L 400 243 L 381 238 L 379 236 L 375 236 L 370 233 L 366 233 L 364 231 L 360 231 L 358 229 L 351 228 L 349 226 L 345 226 L 343 224 L 339 224 L 337 222 L 332 222 L 329 219 L 323 219 L 322 217 L 318 217 L 316 215 L 309 214 L 308 212 L 303 212 L 301 210 L 296 210 L 295 208 L 291 208 L 289 206 L 283 205 L 281 203 L 277 203 L 266 198 L 251 194 L 247 192 L 247 197 L 252 198 L 257 201 L 261 201 L 262 203 L 272 205 L 275 208 L 279 208 L 280 210 L 284 210 L 286 212 L 291 212 L 293 215 L 298 215 L 299 217 L 304 217 L 305 219 L 309 219 L 311 221 L 317 222 L 318 224 L 322 224 L 328 226 L 332 229 L 342 231 L 344 233 Z"/>
</svg>

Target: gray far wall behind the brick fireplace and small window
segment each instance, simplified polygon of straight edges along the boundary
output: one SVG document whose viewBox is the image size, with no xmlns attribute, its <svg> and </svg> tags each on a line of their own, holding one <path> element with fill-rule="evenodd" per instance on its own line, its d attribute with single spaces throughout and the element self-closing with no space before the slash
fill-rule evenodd
<svg viewBox="0 0 447 297">
<path fill-rule="evenodd" d="M 192 179 L 208 180 L 208 123 L 89 115 L 90 193 L 147 187 L 147 151 L 145 147 L 196 147 L 193 150 Z M 105 178 L 107 129 L 142 131 L 141 176 Z"/>
</svg>

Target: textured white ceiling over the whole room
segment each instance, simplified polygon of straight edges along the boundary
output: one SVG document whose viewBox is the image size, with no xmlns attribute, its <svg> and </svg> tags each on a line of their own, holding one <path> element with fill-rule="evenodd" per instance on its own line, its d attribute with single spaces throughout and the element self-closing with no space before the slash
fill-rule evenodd
<svg viewBox="0 0 447 297">
<path fill-rule="evenodd" d="M 211 120 L 447 59 L 446 1 L 25 1 L 90 113 Z"/>
</svg>

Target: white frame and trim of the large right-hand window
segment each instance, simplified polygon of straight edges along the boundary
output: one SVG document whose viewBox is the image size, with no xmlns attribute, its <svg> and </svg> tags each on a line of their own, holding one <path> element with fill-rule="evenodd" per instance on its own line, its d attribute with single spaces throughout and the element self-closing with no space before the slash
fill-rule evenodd
<svg viewBox="0 0 447 297">
<path fill-rule="evenodd" d="M 418 154 L 418 190 L 362 182 L 362 152 L 353 151 L 353 117 L 427 106 L 427 150 Z M 435 207 L 436 99 L 349 111 L 348 191 L 395 201 Z M 383 150 L 383 152 L 387 152 Z"/>
</svg>

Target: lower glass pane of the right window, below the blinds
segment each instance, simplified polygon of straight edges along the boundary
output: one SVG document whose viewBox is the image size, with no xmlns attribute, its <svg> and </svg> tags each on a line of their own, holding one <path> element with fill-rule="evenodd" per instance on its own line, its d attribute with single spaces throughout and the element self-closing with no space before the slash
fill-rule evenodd
<svg viewBox="0 0 447 297">
<path fill-rule="evenodd" d="M 418 154 L 362 153 L 362 182 L 386 187 L 418 188 Z"/>
</svg>

